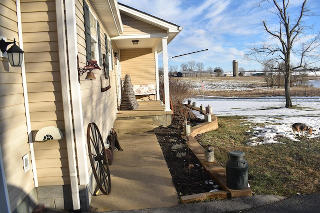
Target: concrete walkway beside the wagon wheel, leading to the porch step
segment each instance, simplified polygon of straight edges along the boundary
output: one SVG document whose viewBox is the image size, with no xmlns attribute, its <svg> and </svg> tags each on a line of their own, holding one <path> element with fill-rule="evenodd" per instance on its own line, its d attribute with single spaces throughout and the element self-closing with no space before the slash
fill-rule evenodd
<svg viewBox="0 0 320 213">
<path fill-rule="evenodd" d="M 91 212 L 168 208 L 179 199 L 154 132 L 118 134 L 109 195 L 94 196 Z"/>
</svg>

